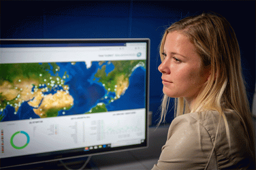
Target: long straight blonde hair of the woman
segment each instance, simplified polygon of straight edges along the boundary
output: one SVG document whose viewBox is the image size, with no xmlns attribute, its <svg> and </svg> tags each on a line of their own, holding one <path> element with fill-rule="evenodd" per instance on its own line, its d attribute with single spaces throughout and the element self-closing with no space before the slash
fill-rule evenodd
<svg viewBox="0 0 256 170">
<path fill-rule="evenodd" d="M 166 29 L 162 38 L 159 50 L 162 61 L 165 39 L 172 31 L 179 31 L 186 35 L 195 46 L 203 66 L 211 66 L 210 78 L 199 92 L 193 108 L 189 109 L 184 98 L 175 98 L 175 116 L 207 110 L 218 111 L 225 122 L 230 147 L 228 122 L 224 111 L 236 111 L 234 113 L 241 118 L 247 137 L 250 139 L 251 150 L 255 153 L 252 114 L 242 75 L 240 50 L 235 32 L 229 22 L 222 16 L 203 13 L 173 23 Z M 159 123 L 165 120 L 169 100 L 170 98 L 164 95 Z M 215 143 L 213 149 L 214 147 Z"/>
</svg>

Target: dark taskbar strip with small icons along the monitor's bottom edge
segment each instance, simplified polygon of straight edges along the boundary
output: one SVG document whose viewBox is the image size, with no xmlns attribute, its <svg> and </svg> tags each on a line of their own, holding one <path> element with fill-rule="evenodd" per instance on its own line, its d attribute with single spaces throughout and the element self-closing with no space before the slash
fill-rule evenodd
<svg viewBox="0 0 256 170">
<path fill-rule="evenodd" d="M 129 143 L 129 141 L 127 142 Z M 1 158 L 0 169 L 44 162 L 53 162 L 62 159 L 72 159 L 92 155 L 108 154 L 111 152 L 126 151 L 131 149 L 141 149 L 146 148 L 148 146 L 148 141 L 146 139 L 141 139 L 140 143 L 134 145 L 121 146 L 121 143 L 124 143 L 124 141 L 119 143 L 120 146 L 118 146 L 118 143 L 108 143 L 103 145 L 86 146 L 84 148 L 70 150 L 61 150 L 34 155 Z"/>
</svg>

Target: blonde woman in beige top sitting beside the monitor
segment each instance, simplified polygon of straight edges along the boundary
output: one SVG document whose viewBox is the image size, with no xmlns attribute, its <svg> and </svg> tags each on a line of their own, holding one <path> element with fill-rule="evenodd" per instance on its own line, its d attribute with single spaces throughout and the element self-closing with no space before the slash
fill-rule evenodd
<svg viewBox="0 0 256 170">
<path fill-rule="evenodd" d="M 164 120 L 175 116 L 153 169 L 255 169 L 255 138 L 235 32 L 222 16 L 175 22 L 160 55 Z"/>
</svg>

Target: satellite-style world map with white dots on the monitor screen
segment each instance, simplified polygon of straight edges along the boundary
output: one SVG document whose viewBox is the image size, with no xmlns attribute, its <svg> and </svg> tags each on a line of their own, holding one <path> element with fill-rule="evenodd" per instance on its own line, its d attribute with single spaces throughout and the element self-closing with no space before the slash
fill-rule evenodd
<svg viewBox="0 0 256 170">
<path fill-rule="evenodd" d="M 145 108 L 146 61 L 0 64 L 0 121 Z"/>
</svg>

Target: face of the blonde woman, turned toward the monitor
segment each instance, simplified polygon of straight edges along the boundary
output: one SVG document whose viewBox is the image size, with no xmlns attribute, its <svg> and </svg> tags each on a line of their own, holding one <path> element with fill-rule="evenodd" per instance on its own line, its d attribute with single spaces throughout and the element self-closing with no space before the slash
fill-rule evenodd
<svg viewBox="0 0 256 170">
<path fill-rule="evenodd" d="M 163 56 L 158 70 L 162 73 L 164 94 L 192 102 L 207 81 L 210 69 L 202 66 L 194 45 L 178 31 L 167 34 Z"/>
</svg>

